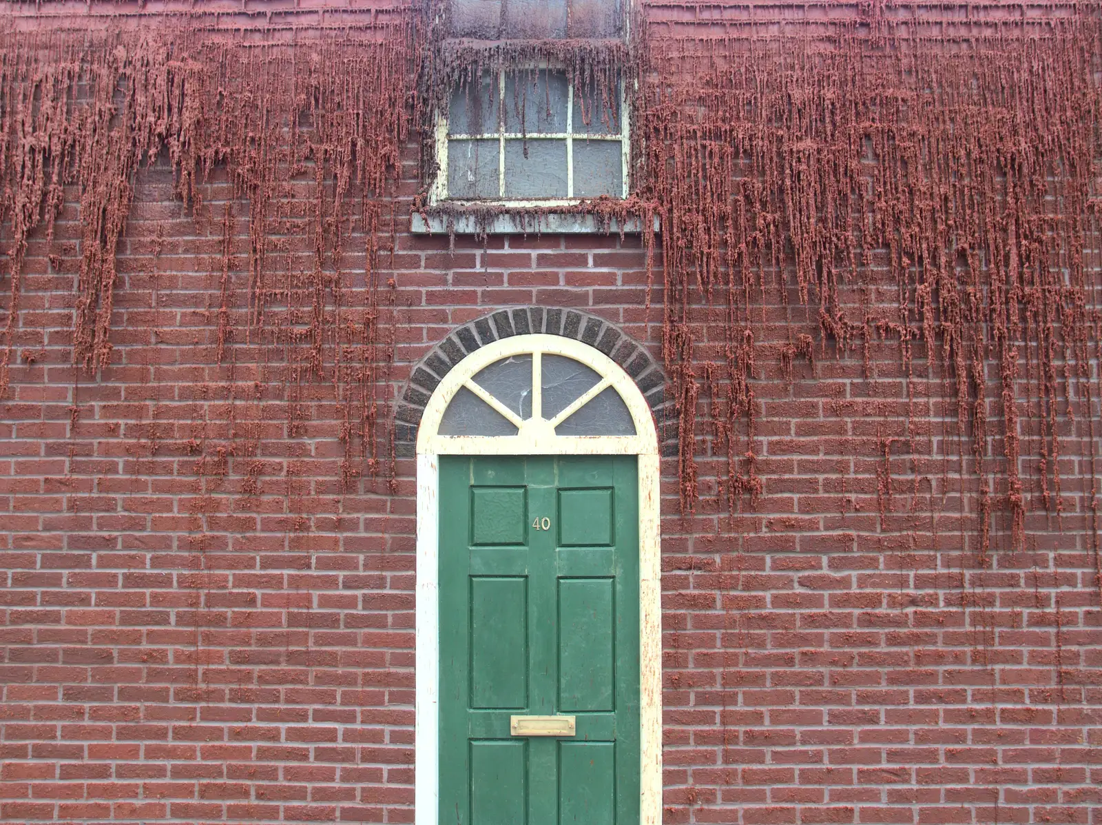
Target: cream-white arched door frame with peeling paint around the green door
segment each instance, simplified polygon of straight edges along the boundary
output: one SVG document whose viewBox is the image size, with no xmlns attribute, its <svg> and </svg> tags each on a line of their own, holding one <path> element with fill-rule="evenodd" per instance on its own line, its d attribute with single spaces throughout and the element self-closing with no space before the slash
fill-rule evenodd
<svg viewBox="0 0 1102 825">
<path fill-rule="evenodd" d="M 542 353 L 580 361 L 602 376 L 553 421 L 517 416 L 472 382 L 495 361 L 532 354 L 538 378 Z M 518 426 L 516 436 L 442 436 L 440 421 L 452 397 L 466 386 Z M 635 421 L 635 436 L 563 437 L 554 425 L 605 387 L 619 393 Z M 533 381 L 538 396 L 540 382 Z M 540 409 L 533 398 L 533 409 Z M 417 710 L 414 823 L 439 825 L 440 802 L 440 456 L 637 456 L 639 476 L 639 819 L 662 821 L 662 676 L 659 534 L 659 454 L 655 419 L 642 393 L 615 361 L 587 344 L 559 335 L 515 335 L 476 350 L 444 376 L 421 418 L 417 440 Z M 626 825 L 630 825 L 629 823 Z"/>
</svg>

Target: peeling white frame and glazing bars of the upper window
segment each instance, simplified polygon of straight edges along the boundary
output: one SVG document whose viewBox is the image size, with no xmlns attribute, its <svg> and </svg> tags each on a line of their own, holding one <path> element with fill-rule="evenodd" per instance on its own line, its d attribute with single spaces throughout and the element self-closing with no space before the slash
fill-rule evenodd
<svg viewBox="0 0 1102 825">
<path fill-rule="evenodd" d="M 627 95 L 624 89 L 623 78 L 618 81 L 619 92 L 619 131 L 608 135 L 577 133 L 574 131 L 574 84 L 566 84 L 566 131 L 565 132 L 507 132 L 505 131 L 505 76 L 509 72 L 525 73 L 528 66 L 503 66 L 497 73 L 498 94 L 498 128 L 493 132 L 478 135 L 449 135 L 447 117 L 444 113 L 436 114 L 436 180 L 429 191 L 429 203 L 450 203 L 460 206 L 496 205 L 511 208 L 533 208 L 571 206 L 585 201 L 584 197 L 574 197 L 574 141 L 575 140 L 599 140 L 604 142 L 619 142 L 620 144 L 620 181 L 623 183 L 620 200 L 626 199 L 631 191 L 630 169 L 631 169 L 631 130 L 630 113 L 628 111 Z M 560 67 L 541 64 L 538 71 L 561 71 Z M 558 199 L 508 199 L 505 196 L 505 142 L 506 140 L 565 140 L 566 141 L 566 197 Z M 465 200 L 449 197 L 447 195 L 447 148 L 451 140 L 497 140 L 497 199 Z"/>
</svg>

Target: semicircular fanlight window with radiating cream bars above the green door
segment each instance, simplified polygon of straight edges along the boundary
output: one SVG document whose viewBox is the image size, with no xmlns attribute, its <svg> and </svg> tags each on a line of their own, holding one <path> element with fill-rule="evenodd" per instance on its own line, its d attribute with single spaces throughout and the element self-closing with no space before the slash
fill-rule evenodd
<svg viewBox="0 0 1102 825">
<path fill-rule="evenodd" d="M 441 436 L 634 436 L 612 378 L 553 353 L 510 355 L 484 367 L 452 397 Z"/>
</svg>

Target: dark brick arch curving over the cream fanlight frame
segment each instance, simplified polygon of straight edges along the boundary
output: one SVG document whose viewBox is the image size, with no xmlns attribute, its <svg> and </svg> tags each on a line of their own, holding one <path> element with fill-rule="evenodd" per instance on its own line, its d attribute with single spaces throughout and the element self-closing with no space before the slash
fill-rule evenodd
<svg viewBox="0 0 1102 825">
<path fill-rule="evenodd" d="M 663 456 L 677 453 L 678 432 L 673 399 L 666 375 L 650 354 L 629 335 L 603 318 L 574 309 L 522 307 L 503 309 L 456 326 L 412 369 L 398 404 L 395 448 L 412 457 L 421 416 L 440 379 L 471 353 L 500 339 L 544 333 L 580 341 L 601 351 L 631 376 L 647 399 L 658 427 Z"/>
</svg>

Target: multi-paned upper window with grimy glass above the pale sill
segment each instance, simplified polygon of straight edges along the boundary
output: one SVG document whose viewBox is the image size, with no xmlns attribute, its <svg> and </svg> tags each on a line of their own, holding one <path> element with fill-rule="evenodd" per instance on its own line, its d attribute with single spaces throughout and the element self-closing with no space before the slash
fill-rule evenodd
<svg viewBox="0 0 1102 825">
<path fill-rule="evenodd" d="M 457 85 L 437 127 L 435 199 L 523 207 L 626 197 L 623 89 L 597 86 L 547 67 Z"/>
</svg>

